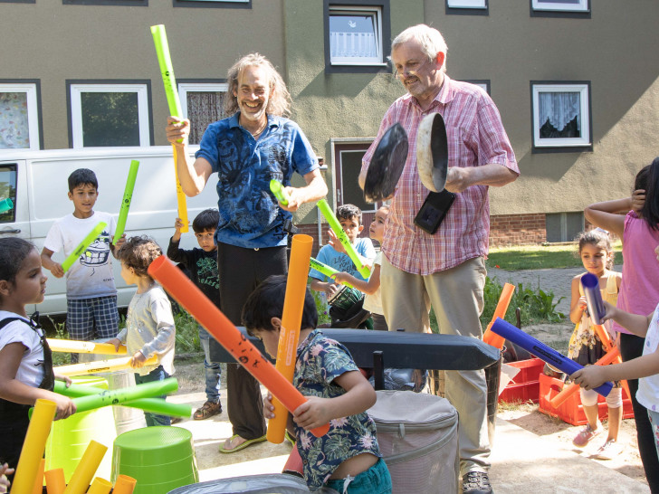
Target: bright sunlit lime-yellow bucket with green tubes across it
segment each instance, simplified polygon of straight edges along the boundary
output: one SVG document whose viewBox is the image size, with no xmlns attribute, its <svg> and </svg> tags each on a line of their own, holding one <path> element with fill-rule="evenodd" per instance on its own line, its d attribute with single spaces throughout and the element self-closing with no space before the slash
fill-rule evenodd
<svg viewBox="0 0 659 494">
<path fill-rule="evenodd" d="M 108 381 L 96 375 L 73 377 L 72 381 L 74 385 L 108 389 Z M 110 479 L 112 467 L 110 450 L 116 437 L 111 406 L 89 412 L 74 413 L 68 419 L 55 421 L 51 434 L 48 436 L 48 442 L 46 442 L 45 470 L 63 469 L 64 478 L 68 483 L 82 454 L 90 441 L 94 440 L 108 447 L 108 452 L 105 453 L 99 469 L 96 470 L 96 476 Z"/>
</svg>

